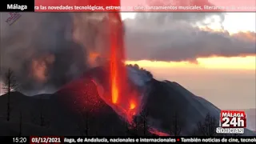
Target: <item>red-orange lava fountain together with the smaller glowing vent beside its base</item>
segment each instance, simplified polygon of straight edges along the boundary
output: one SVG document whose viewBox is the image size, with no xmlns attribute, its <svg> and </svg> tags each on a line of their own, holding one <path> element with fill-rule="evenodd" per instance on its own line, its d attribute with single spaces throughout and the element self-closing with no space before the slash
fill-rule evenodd
<svg viewBox="0 0 256 144">
<path fill-rule="evenodd" d="M 126 54 L 124 46 L 124 29 L 119 13 L 109 13 L 110 19 L 110 94 L 111 102 L 126 113 L 131 122 L 137 112 L 138 94 L 128 83 L 126 72 Z"/>
</svg>

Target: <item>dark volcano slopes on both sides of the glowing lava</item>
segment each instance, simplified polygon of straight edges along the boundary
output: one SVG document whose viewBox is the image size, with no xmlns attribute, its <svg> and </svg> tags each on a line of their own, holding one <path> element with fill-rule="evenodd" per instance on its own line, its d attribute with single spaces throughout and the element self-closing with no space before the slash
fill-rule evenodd
<svg viewBox="0 0 256 144">
<path fill-rule="evenodd" d="M 159 82 L 138 67 L 130 66 L 129 78 L 142 94 L 141 109 L 150 128 L 174 134 L 172 126 L 178 114 L 179 135 L 194 134 L 198 122 L 207 114 L 219 118 L 220 110 L 204 98 L 195 96 L 177 82 Z M 128 123 L 98 95 L 91 80 L 107 87 L 108 74 L 97 67 L 54 94 L 28 97 L 10 95 L 10 121 L 6 121 L 7 95 L 0 96 L 0 135 L 131 135 Z M 176 121 L 177 122 L 177 121 Z M 198 134 L 204 135 L 204 134 Z M 244 135 L 255 135 L 246 130 Z"/>
</svg>

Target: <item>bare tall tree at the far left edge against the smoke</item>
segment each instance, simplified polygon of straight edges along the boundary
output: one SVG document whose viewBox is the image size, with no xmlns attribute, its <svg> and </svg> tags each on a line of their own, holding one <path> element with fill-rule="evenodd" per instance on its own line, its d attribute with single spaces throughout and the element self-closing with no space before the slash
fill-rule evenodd
<svg viewBox="0 0 256 144">
<path fill-rule="evenodd" d="M 10 93 L 18 89 L 18 82 L 14 76 L 14 71 L 8 69 L 4 77 L 4 90 L 7 94 L 7 116 L 6 120 L 10 121 Z"/>
</svg>

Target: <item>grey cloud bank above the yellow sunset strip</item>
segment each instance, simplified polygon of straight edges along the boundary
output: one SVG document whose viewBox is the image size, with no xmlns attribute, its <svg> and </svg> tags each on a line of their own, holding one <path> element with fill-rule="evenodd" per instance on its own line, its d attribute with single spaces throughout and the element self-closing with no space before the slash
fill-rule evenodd
<svg viewBox="0 0 256 144">
<path fill-rule="evenodd" d="M 125 22 L 127 58 L 196 62 L 198 57 L 256 54 L 254 32 L 230 35 L 225 30 L 200 30 L 195 26 L 214 23 L 222 28 L 224 18 L 223 13 L 137 14 Z"/>
</svg>

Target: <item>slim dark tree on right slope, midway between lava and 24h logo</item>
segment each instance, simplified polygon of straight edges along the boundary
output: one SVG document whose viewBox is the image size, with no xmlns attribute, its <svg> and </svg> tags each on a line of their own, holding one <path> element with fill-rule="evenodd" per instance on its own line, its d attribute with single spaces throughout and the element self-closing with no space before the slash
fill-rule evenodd
<svg viewBox="0 0 256 144">
<path fill-rule="evenodd" d="M 173 122 L 170 125 L 170 134 L 173 136 L 179 136 L 182 132 L 182 126 L 180 124 L 180 119 L 178 113 L 175 111 Z"/>
</svg>

